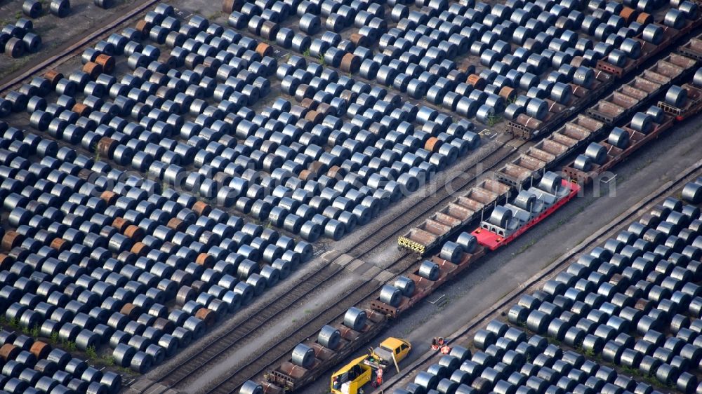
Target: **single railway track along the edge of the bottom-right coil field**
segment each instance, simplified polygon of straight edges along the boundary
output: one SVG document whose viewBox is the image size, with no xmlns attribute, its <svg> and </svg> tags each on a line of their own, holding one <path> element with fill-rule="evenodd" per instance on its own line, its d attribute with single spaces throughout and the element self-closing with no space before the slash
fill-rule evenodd
<svg viewBox="0 0 702 394">
<path fill-rule="evenodd" d="M 552 264 L 543 271 L 537 273 L 535 276 L 531 277 L 527 283 L 524 283 L 524 285 L 519 286 L 518 289 L 512 291 L 510 294 L 498 301 L 487 311 L 473 318 L 473 320 L 471 320 L 468 323 L 468 325 L 461 327 L 461 330 L 454 333 L 453 336 L 449 338 L 449 341 L 451 343 L 466 343 L 470 341 L 470 334 L 477 330 L 479 327 L 482 327 L 482 325 L 485 325 L 486 322 L 489 322 L 491 319 L 495 318 L 501 310 L 515 304 L 519 297 L 522 297 L 522 295 L 536 290 L 536 286 L 538 286 L 539 283 L 541 283 L 547 278 L 550 278 L 551 276 L 554 276 L 556 273 L 561 271 L 565 266 L 567 266 L 567 264 L 569 264 L 571 259 L 576 257 L 578 254 L 581 254 L 583 251 L 587 250 L 593 245 L 600 243 L 600 240 L 603 236 L 612 233 L 613 231 L 621 227 L 623 224 L 630 222 L 630 220 L 634 217 L 641 215 L 642 208 L 647 207 L 651 205 L 651 203 L 653 203 L 654 201 L 657 201 L 659 198 L 668 195 L 670 191 L 677 189 L 678 187 L 682 186 L 682 184 L 684 184 L 685 182 L 689 182 L 689 179 L 698 176 L 701 171 L 702 161 L 698 161 L 693 167 L 688 168 L 682 175 L 677 177 L 677 179 L 668 182 L 668 184 L 665 184 L 664 186 L 661 186 L 661 188 L 656 190 L 654 194 L 647 196 L 644 200 L 640 201 L 640 203 L 638 203 L 635 207 L 630 208 L 630 210 L 623 213 L 622 215 L 614 219 L 612 222 L 609 222 L 609 224 L 607 224 L 606 227 L 600 229 L 600 231 L 597 231 L 597 233 L 593 234 L 590 238 L 588 238 L 588 240 L 585 240 L 579 245 L 576 245 L 576 247 L 567 252 L 567 254 L 562 255 L 562 257 L 555 264 Z M 400 382 L 405 383 L 404 379 L 406 379 L 408 376 L 413 376 L 413 374 L 415 374 L 421 369 L 425 369 L 425 367 L 427 367 L 431 363 L 431 360 L 433 360 L 435 357 L 436 353 L 425 353 L 420 358 L 418 358 L 418 360 L 415 360 L 415 362 L 413 362 L 412 365 L 406 367 L 402 371 L 402 374 L 397 374 L 393 376 L 392 379 L 387 381 L 386 383 L 388 384 L 383 387 L 383 391 L 389 392 L 389 390 L 394 388 L 396 384 L 399 386 Z M 377 393 L 380 393 L 380 391 L 376 390 L 373 392 L 373 394 Z"/>
</svg>

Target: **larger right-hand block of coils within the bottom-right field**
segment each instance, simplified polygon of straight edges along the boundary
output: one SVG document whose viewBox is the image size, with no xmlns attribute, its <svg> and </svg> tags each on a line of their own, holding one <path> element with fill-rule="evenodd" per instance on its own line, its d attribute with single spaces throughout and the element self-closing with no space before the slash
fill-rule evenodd
<svg viewBox="0 0 702 394">
<path fill-rule="evenodd" d="M 702 221 L 694 205 L 666 199 L 578 259 L 508 315 L 614 365 L 694 391 L 702 359 Z M 670 332 L 666 337 L 661 332 Z"/>
</svg>

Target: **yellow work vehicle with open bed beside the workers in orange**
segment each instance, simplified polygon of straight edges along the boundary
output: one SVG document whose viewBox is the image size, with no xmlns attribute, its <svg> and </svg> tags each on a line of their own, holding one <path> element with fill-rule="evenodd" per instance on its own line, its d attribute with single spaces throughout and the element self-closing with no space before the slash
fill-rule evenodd
<svg viewBox="0 0 702 394">
<path fill-rule="evenodd" d="M 363 386 L 373 381 L 374 386 L 383 383 L 386 368 L 404 360 L 412 346 L 404 339 L 388 338 L 371 349 L 366 355 L 352 360 L 331 375 L 331 393 L 362 394 Z"/>
</svg>

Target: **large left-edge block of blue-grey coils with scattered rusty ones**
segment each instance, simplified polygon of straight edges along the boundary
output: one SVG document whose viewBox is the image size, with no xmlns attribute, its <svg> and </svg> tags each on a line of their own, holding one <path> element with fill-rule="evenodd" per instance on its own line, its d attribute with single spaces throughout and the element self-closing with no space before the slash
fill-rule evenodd
<svg viewBox="0 0 702 394">
<path fill-rule="evenodd" d="M 74 151 L 4 136 L 14 137 L 1 140 L 0 168 L 13 230 L 2 237 L 0 297 L 6 318 L 45 337 L 81 350 L 109 342 L 121 366 L 145 372 L 310 258 L 309 245 L 134 178 L 99 193 Z M 47 151 L 40 163 L 23 158 Z"/>
</svg>

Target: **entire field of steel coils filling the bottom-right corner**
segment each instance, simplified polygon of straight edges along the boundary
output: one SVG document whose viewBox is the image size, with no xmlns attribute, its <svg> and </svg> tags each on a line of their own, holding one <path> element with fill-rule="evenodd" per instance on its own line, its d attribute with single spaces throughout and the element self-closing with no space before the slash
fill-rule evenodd
<svg viewBox="0 0 702 394">
<path fill-rule="evenodd" d="M 696 392 L 701 234 L 699 209 L 668 198 L 543 290 L 522 296 L 508 320 L 529 332 L 492 320 L 475 333 L 475 353 L 454 344 L 449 355 L 396 391 L 653 393 L 636 376 L 654 376 L 683 393 Z M 589 360 L 561 342 L 602 359 Z M 614 367 L 642 375 L 624 376 Z"/>
</svg>

